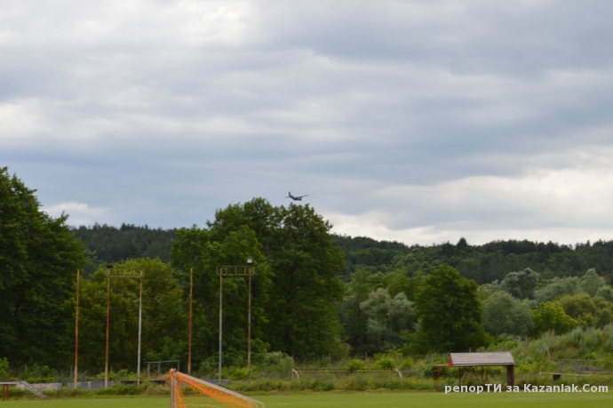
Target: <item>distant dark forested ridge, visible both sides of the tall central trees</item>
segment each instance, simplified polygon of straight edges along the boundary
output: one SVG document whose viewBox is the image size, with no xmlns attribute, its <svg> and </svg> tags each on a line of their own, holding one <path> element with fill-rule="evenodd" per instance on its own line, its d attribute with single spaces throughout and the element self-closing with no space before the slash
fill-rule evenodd
<svg viewBox="0 0 613 408">
<path fill-rule="evenodd" d="M 91 260 L 88 271 L 103 264 L 137 258 L 170 262 L 172 240 L 177 236 L 177 228 L 133 224 L 120 227 L 94 224 L 71 230 L 88 249 Z M 477 284 L 500 281 L 509 272 L 525 268 L 538 272 L 545 279 L 582 276 L 590 268 L 609 279 L 613 272 L 613 241 L 569 245 L 507 240 L 471 245 L 461 238 L 457 244 L 409 246 L 366 236 L 331 234 L 331 238 L 345 254 L 345 266 L 338 270 L 338 275 L 345 280 L 358 267 L 368 267 L 372 273 L 403 270 L 407 276 L 420 276 L 442 264 L 457 268 L 462 276 L 474 279 Z"/>
</svg>

